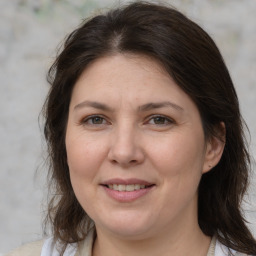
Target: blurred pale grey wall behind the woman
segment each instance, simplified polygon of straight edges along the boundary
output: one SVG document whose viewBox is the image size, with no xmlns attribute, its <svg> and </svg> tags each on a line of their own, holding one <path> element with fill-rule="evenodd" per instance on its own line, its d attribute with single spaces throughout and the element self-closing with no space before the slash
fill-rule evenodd
<svg viewBox="0 0 256 256">
<path fill-rule="evenodd" d="M 46 199 L 38 115 L 56 47 L 113 0 L 0 0 L 0 255 L 42 237 Z M 163 1 L 162 1 L 163 2 Z M 173 0 L 219 46 L 236 86 L 256 155 L 256 1 Z M 255 172 L 255 167 L 254 167 Z M 255 178 L 243 209 L 256 234 Z M 43 200 L 44 199 L 44 200 Z"/>
</svg>

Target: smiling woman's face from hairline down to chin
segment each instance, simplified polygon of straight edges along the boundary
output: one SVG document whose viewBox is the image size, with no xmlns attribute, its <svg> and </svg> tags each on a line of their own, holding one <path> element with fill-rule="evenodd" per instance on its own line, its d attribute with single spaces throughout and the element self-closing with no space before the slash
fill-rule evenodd
<svg viewBox="0 0 256 256">
<path fill-rule="evenodd" d="M 136 239 L 197 225 L 213 149 L 196 105 L 157 62 L 119 54 L 92 63 L 73 90 L 66 149 L 97 232 Z"/>
</svg>

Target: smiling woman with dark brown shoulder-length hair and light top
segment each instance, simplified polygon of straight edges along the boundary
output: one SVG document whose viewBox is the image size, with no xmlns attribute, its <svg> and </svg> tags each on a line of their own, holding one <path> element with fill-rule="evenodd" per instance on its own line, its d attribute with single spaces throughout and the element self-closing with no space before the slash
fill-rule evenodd
<svg viewBox="0 0 256 256">
<path fill-rule="evenodd" d="M 21 255 L 256 254 L 237 95 L 197 24 L 145 2 L 98 15 L 49 82 L 53 238 Z"/>
</svg>

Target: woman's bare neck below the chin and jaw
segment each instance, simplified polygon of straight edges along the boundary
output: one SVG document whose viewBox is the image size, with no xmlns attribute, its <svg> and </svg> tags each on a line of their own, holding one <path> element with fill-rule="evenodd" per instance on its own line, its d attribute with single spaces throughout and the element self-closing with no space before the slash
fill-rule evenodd
<svg viewBox="0 0 256 256">
<path fill-rule="evenodd" d="M 163 225 L 149 228 L 143 234 L 122 234 L 96 225 L 97 238 L 93 256 L 206 256 L 211 238 L 199 227 L 197 200 L 192 206 Z"/>
</svg>

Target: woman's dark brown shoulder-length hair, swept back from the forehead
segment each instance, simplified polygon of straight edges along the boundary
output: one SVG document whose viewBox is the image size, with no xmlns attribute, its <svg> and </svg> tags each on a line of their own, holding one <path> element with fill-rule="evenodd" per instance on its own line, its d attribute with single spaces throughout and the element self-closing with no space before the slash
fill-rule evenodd
<svg viewBox="0 0 256 256">
<path fill-rule="evenodd" d="M 237 251 L 256 254 L 256 242 L 245 225 L 240 204 L 248 183 L 250 159 L 237 95 L 209 35 L 177 10 L 147 2 L 129 4 L 84 22 L 72 32 L 48 73 L 51 89 L 44 105 L 45 137 L 54 195 L 48 220 L 56 240 L 84 239 L 92 220 L 71 186 L 65 132 L 72 89 L 92 61 L 113 53 L 143 54 L 159 61 L 196 103 L 207 138 L 226 126 L 226 145 L 219 164 L 199 185 L 198 222 Z"/>
</svg>

